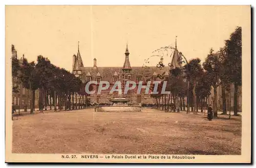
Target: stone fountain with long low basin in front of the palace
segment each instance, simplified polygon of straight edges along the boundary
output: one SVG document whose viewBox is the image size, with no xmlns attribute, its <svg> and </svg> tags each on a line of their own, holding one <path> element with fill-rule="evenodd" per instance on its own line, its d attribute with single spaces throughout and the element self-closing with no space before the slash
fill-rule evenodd
<svg viewBox="0 0 256 168">
<path fill-rule="evenodd" d="M 99 112 L 141 112 L 141 106 L 131 106 L 128 103 L 130 99 L 120 95 L 109 99 L 112 106 L 97 106 Z"/>
</svg>

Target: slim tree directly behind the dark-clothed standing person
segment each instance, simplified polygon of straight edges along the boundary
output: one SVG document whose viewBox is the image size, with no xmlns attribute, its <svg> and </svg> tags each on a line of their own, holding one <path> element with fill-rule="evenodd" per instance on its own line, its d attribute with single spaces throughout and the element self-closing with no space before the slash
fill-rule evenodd
<svg viewBox="0 0 256 168">
<path fill-rule="evenodd" d="M 203 67 L 207 71 L 211 86 L 214 88 L 214 117 L 218 117 L 217 87 L 221 84 L 221 61 L 218 54 L 214 53 L 214 50 L 210 49 L 210 53 L 207 55 Z"/>
</svg>

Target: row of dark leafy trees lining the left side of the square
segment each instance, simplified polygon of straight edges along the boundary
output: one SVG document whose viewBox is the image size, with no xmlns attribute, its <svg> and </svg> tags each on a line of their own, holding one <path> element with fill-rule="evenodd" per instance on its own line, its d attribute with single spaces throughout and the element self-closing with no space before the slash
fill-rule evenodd
<svg viewBox="0 0 256 168">
<path fill-rule="evenodd" d="M 14 49 L 14 46 L 12 46 Z M 20 62 L 21 61 L 21 62 Z M 39 110 L 42 111 L 45 107 L 53 104 L 54 110 L 62 110 L 62 107 L 72 109 L 80 109 L 80 106 L 86 106 L 87 94 L 84 91 L 84 86 L 81 80 L 63 68 L 53 65 L 48 58 L 38 56 L 37 62 L 28 62 L 26 58 L 18 60 L 12 58 L 12 77 L 16 84 L 21 84 L 30 90 L 31 99 L 30 112 L 35 109 L 35 91 L 39 89 Z M 13 94 L 19 92 L 18 87 L 13 85 Z M 77 100 L 79 97 L 79 106 L 77 103 L 74 106 L 74 97 Z M 53 100 L 53 102 L 49 102 Z M 58 100 L 58 102 L 57 102 Z M 82 108 L 82 107 L 81 107 Z"/>
</svg>

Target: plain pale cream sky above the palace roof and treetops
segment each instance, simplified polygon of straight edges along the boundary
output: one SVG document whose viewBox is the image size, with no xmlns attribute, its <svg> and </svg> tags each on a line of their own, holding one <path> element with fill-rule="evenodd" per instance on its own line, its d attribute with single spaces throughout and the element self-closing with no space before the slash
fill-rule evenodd
<svg viewBox="0 0 256 168">
<path fill-rule="evenodd" d="M 79 41 L 84 66 L 94 58 L 97 66 L 122 66 L 127 43 L 131 66 L 142 66 L 156 49 L 175 47 L 177 36 L 187 60 L 203 62 L 237 26 L 248 27 L 249 15 L 250 6 L 6 6 L 6 58 L 13 44 L 19 58 L 42 55 L 71 70 Z"/>
</svg>

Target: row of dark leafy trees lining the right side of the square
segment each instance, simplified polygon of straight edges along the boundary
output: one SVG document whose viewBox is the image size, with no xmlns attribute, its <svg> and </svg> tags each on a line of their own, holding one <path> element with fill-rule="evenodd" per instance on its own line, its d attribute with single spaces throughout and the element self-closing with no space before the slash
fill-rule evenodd
<svg viewBox="0 0 256 168">
<path fill-rule="evenodd" d="M 182 55 L 182 53 L 180 53 Z M 227 113 L 225 91 L 230 92 L 231 85 L 234 85 L 234 115 L 238 115 L 238 87 L 242 86 L 242 28 L 237 27 L 225 40 L 225 46 L 214 52 L 210 49 L 205 62 L 201 63 L 199 58 L 191 59 L 186 65 L 170 70 L 166 90 L 172 93 L 174 106 L 178 105 L 180 99 L 180 109 L 185 106 L 184 98 L 187 98 L 187 112 L 189 107 L 194 113 L 198 112 L 198 107 L 206 106 L 207 97 L 210 95 L 211 87 L 214 88 L 214 116 L 217 117 L 217 87 L 222 86 L 223 113 Z M 153 88 L 154 86 L 152 86 Z M 159 85 L 161 90 L 162 83 Z M 162 110 L 166 109 L 166 96 L 170 95 L 154 94 L 158 107 L 162 98 Z M 172 103 L 172 102 L 171 102 Z M 167 101 L 169 104 L 169 98 Z M 184 108 L 183 108 L 184 109 Z"/>
</svg>

